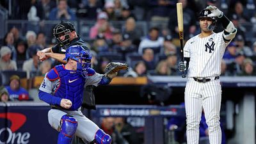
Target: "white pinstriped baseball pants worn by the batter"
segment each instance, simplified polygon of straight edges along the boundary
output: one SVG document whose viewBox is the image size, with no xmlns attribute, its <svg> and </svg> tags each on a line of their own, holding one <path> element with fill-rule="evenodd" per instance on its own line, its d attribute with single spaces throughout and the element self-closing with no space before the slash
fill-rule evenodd
<svg viewBox="0 0 256 144">
<path fill-rule="evenodd" d="M 221 144 L 220 128 L 221 85 L 220 80 L 211 79 L 199 83 L 188 78 L 185 88 L 185 109 L 188 144 L 198 144 L 199 124 L 204 109 L 211 144 Z"/>
</svg>

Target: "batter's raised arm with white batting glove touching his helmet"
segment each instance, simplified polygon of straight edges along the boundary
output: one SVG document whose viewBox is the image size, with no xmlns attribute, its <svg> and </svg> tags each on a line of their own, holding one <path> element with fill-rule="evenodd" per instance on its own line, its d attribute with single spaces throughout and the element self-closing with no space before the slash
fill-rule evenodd
<svg viewBox="0 0 256 144">
<path fill-rule="evenodd" d="M 234 24 L 216 6 L 207 6 L 206 9 L 212 12 L 211 14 L 207 15 L 208 17 L 218 17 L 218 19 L 220 19 L 221 24 L 225 29 L 223 39 L 225 42 L 230 42 L 230 40 L 232 40 L 237 33 L 237 29 Z"/>
</svg>

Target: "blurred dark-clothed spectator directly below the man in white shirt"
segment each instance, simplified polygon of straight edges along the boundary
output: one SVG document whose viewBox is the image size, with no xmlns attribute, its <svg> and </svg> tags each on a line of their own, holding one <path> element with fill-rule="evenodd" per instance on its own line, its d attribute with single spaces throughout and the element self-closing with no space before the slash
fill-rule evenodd
<svg viewBox="0 0 256 144">
<path fill-rule="evenodd" d="M 145 49 L 142 54 L 142 59 L 146 64 L 147 70 L 154 70 L 156 61 L 154 58 L 154 51 L 152 49 Z"/>
</svg>

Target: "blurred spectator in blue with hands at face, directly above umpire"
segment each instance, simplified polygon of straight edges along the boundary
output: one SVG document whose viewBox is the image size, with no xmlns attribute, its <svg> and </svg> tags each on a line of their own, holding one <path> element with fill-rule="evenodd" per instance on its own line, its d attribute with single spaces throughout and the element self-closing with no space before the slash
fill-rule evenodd
<svg viewBox="0 0 256 144">
<path fill-rule="evenodd" d="M 76 20 L 76 14 L 68 8 L 67 0 L 59 0 L 58 6 L 49 13 L 49 20 Z"/>
</svg>

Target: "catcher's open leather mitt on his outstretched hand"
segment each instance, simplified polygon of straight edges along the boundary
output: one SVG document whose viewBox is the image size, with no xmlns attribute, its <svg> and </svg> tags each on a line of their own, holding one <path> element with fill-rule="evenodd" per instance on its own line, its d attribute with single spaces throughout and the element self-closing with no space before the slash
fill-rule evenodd
<svg viewBox="0 0 256 144">
<path fill-rule="evenodd" d="M 119 72 L 120 70 L 127 70 L 128 65 L 127 63 L 119 63 L 119 62 L 111 62 L 108 63 L 107 67 L 105 68 L 105 75 L 113 74 Z"/>
</svg>

